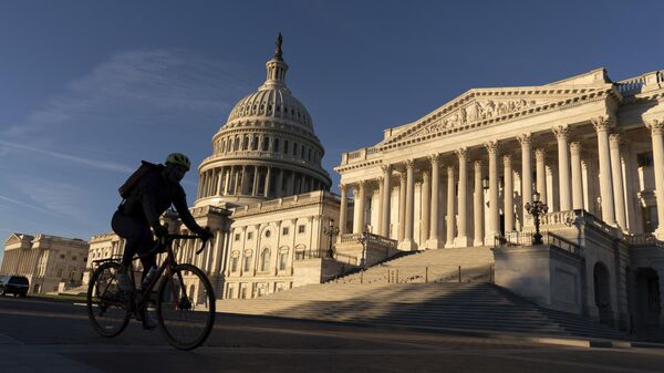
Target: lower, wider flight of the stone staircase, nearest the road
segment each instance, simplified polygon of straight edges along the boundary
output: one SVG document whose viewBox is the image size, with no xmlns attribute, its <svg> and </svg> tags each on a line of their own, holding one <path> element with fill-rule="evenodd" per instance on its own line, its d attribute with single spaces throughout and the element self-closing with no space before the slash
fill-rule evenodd
<svg viewBox="0 0 664 373">
<path fill-rule="evenodd" d="M 549 336 L 627 339 L 606 325 L 536 305 L 490 283 L 322 283 L 217 302 L 219 312 Z"/>
</svg>

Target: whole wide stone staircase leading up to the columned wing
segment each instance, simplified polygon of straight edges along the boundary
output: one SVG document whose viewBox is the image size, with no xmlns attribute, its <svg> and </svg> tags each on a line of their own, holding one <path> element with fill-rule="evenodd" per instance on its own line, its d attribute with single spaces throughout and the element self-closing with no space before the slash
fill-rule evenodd
<svg viewBox="0 0 664 373">
<path fill-rule="evenodd" d="M 217 310 L 335 322 L 629 339 L 599 322 L 541 308 L 489 283 L 492 263 L 489 247 L 426 250 L 328 283 L 256 299 L 220 300 Z"/>
</svg>

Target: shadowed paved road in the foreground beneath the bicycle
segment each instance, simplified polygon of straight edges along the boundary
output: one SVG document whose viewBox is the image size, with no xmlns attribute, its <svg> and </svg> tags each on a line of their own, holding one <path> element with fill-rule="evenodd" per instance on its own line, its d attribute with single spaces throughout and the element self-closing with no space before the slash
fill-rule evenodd
<svg viewBox="0 0 664 373">
<path fill-rule="evenodd" d="M 487 339 L 219 315 L 190 352 L 133 321 L 94 334 L 84 307 L 0 298 L 0 372 L 664 372 L 664 350 L 574 349 Z"/>
</svg>

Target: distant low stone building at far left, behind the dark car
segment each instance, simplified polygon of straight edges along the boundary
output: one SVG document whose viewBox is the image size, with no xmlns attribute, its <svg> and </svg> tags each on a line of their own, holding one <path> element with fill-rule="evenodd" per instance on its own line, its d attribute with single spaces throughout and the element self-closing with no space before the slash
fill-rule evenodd
<svg viewBox="0 0 664 373">
<path fill-rule="evenodd" d="M 4 241 L 0 274 L 25 276 L 31 294 L 76 287 L 83 279 L 89 247 L 77 238 L 12 234 Z"/>
</svg>

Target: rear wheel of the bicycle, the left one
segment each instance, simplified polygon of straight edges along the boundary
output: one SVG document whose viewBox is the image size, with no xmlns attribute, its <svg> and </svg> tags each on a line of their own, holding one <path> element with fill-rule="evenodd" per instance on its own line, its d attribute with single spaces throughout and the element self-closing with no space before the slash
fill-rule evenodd
<svg viewBox="0 0 664 373">
<path fill-rule="evenodd" d="M 120 263 L 105 262 L 93 273 L 87 284 L 87 315 L 92 329 L 103 336 L 115 336 L 127 327 L 129 310 L 120 291 L 115 274 Z"/>
</svg>

